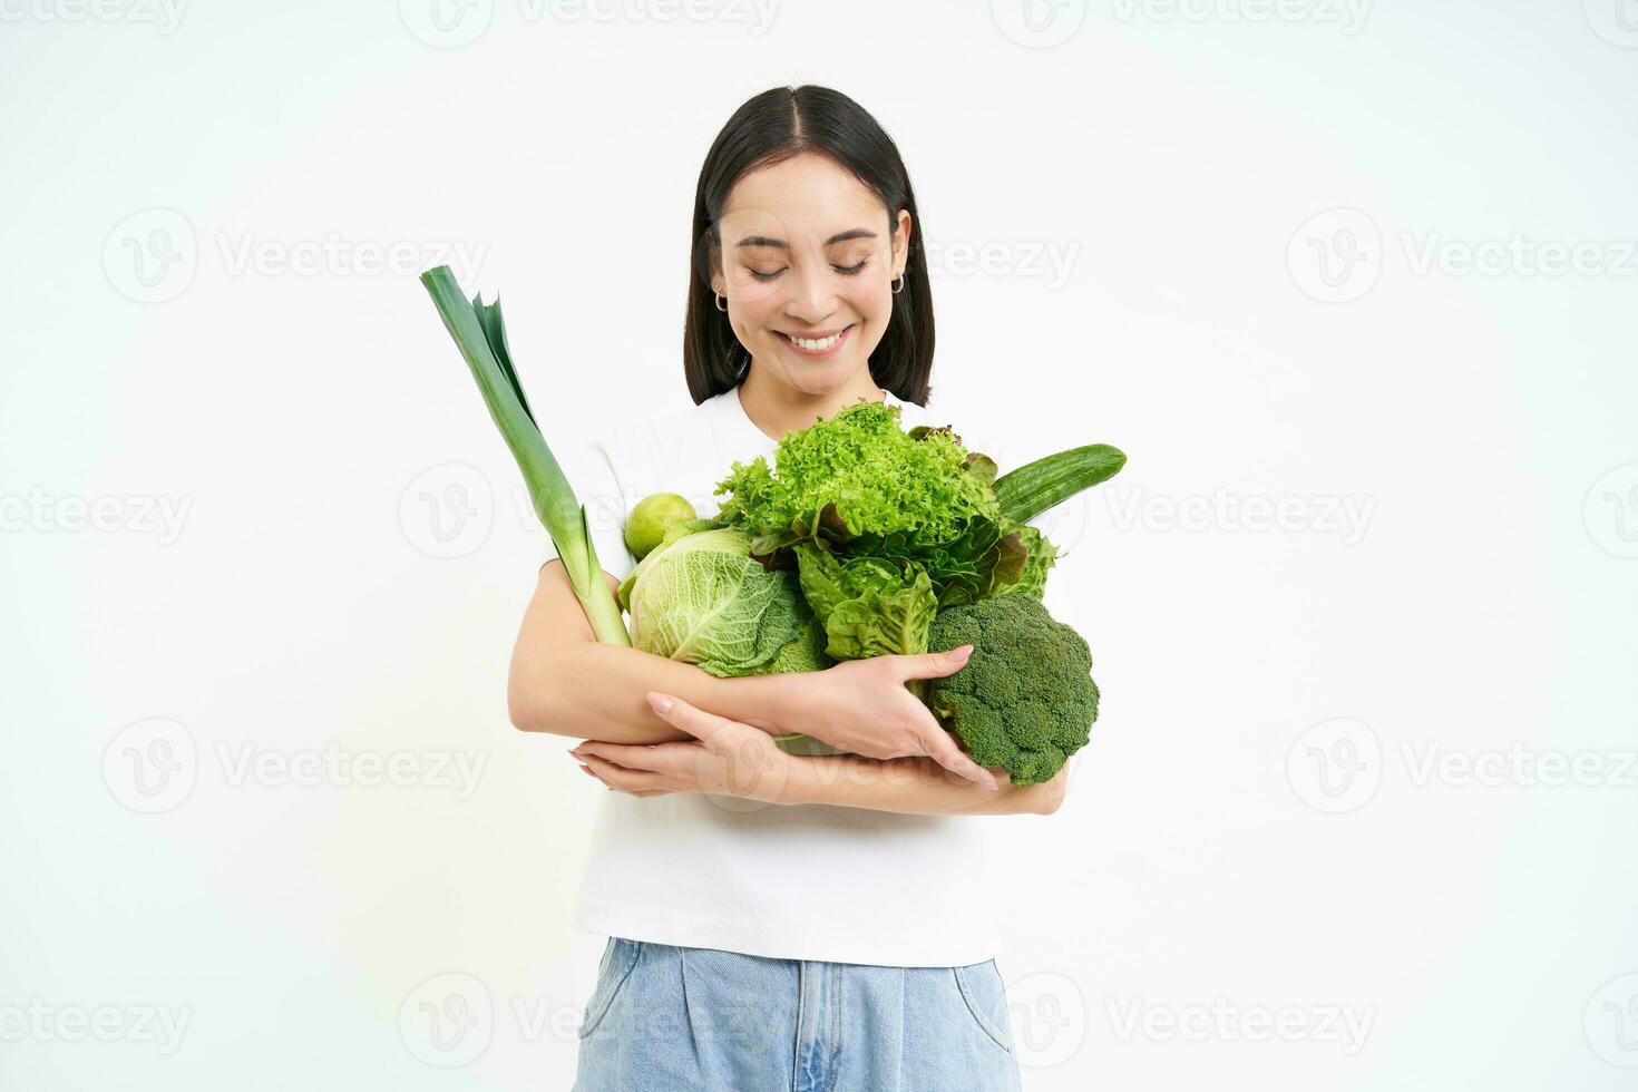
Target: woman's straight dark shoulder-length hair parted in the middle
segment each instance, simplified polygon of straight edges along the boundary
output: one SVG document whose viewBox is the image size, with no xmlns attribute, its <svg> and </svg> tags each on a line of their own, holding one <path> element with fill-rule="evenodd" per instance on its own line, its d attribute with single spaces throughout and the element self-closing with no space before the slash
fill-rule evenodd
<svg viewBox="0 0 1638 1092">
<path fill-rule="evenodd" d="M 863 106 L 842 92 L 804 83 L 775 87 L 750 98 L 717 133 L 695 190 L 693 254 L 688 275 L 688 319 L 683 326 L 683 375 L 695 404 L 734 390 L 750 352 L 739 344 L 727 313 L 716 306 L 711 270 L 722 252 L 719 223 L 729 192 L 740 177 L 803 152 L 816 152 L 852 172 L 888 211 L 889 231 L 899 210 L 911 214 L 904 287 L 893 296 L 893 318 L 870 354 L 876 386 L 901 399 L 927 404 L 932 386 L 932 293 L 922 219 L 899 149 Z"/>
</svg>

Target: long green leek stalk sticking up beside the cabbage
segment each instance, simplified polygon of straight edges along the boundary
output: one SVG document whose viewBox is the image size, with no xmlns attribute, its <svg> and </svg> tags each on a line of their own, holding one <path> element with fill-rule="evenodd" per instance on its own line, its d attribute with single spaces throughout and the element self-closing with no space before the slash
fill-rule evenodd
<svg viewBox="0 0 1638 1092">
<path fill-rule="evenodd" d="M 485 305 L 483 296 L 468 303 L 447 265 L 421 273 L 432 303 L 437 306 L 444 327 L 455 339 L 460 355 L 478 381 L 483 401 L 490 408 L 495 426 L 511 449 L 523 480 L 529 486 L 534 511 L 552 535 L 557 557 L 568 571 L 568 583 L 580 599 L 586 620 L 598 642 L 631 648 L 631 634 L 621 617 L 614 589 L 603 578 L 596 545 L 586 527 L 586 506 L 575 499 L 575 491 L 557 465 L 552 449 L 545 445 L 541 427 L 524 398 L 511 352 L 506 349 L 506 326 L 501 321 L 501 303 Z"/>
</svg>

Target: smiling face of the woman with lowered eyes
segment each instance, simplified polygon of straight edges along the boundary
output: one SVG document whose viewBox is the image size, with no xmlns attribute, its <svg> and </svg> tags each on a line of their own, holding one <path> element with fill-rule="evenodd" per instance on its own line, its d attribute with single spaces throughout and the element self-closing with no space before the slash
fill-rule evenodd
<svg viewBox="0 0 1638 1092">
<path fill-rule="evenodd" d="M 740 178 L 719 231 L 713 288 L 727 296 L 729 324 L 760 373 L 809 395 L 870 375 L 907 252 L 907 211 L 889 224 L 844 167 L 801 154 Z"/>
</svg>

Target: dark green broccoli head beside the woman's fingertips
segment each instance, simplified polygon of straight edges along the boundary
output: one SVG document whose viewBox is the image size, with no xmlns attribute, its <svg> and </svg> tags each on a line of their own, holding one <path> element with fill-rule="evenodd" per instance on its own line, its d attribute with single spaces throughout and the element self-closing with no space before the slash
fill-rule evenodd
<svg viewBox="0 0 1638 1092">
<path fill-rule="evenodd" d="M 930 679 L 927 707 L 980 766 L 1012 784 L 1052 781 L 1097 719 L 1093 652 L 1030 596 L 994 596 L 934 616 L 929 648 L 973 645 L 966 666 Z"/>
</svg>

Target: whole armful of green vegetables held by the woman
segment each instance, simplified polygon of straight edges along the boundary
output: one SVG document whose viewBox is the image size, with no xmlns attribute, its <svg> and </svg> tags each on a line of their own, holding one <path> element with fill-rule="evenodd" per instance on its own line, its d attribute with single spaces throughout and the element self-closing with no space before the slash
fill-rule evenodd
<svg viewBox="0 0 1638 1092">
<path fill-rule="evenodd" d="M 1038 784 L 1086 745 L 1099 697 L 1091 652 L 1042 604 L 1061 553 L 1027 521 L 1114 476 L 1125 463 L 1119 450 L 1076 447 L 998 478 L 996 463 L 948 426 L 906 431 L 898 406 L 862 401 L 788 434 L 771 465 L 734 462 L 711 519 L 676 494 L 645 498 L 626 526 L 637 566 L 611 594 L 585 509 L 527 409 L 500 306 L 467 305 L 446 267 L 423 282 L 598 640 L 717 676 L 971 643 L 960 671 L 911 686 L 978 765 Z"/>
</svg>

